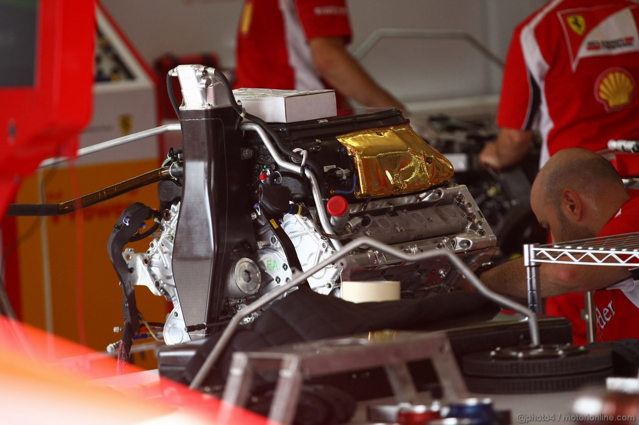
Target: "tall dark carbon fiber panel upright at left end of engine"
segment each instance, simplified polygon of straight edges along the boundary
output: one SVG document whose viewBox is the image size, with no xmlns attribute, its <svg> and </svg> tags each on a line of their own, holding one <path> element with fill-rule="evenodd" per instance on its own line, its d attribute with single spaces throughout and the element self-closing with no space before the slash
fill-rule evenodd
<svg viewBox="0 0 639 425">
<path fill-rule="evenodd" d="M 173 276 L 185 324 L 211 324 L 220 318 L 233 248 L 253 238 L 244 182 L 248 173 L 235 127 L 223 124 L 235 123 L 233 109 L 180 115 L 185 177 Z"/>
</svg>

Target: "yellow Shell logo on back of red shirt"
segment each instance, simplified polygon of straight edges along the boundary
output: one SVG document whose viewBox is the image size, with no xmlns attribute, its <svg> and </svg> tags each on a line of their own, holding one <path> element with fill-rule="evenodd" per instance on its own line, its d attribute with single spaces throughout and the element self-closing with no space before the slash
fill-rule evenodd
<svg viewBox="0 0 639 425">
<path fill-rule="evenodd" d="M 635 80 L 622 68 L 605 70 L 595 83 L 595 97 L 603 103 L 606 111 L 619 110 L 633 101 Z"/>
</svg>

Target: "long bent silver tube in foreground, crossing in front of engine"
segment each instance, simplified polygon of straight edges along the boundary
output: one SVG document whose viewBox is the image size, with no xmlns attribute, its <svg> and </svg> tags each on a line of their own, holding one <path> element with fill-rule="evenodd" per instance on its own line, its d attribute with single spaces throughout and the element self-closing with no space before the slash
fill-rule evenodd
<svg viewBox="0 0 639 425">
<path fill-rule="evenodd" d="M 204 379 L 210 373 L 211 369 L 215 365 L 215 362 L 217 362 L 217 360 L 220 358 L 220 355 L 222 355 L 224 348 L 226 348 L 229 341 L 231 341 L 231 338 L 233 338 L 233 334 L 235 333 L 244 317 L 262 308 L 269 302 L 284 294 L 284 292 L 288 291 L 289 289 L 296 287 L 302 281 L 310 278 L 316 272 L 324 269 L 330 264 L 337 262 L 337 260 L 346 257 L 346 255 L 348 255 L 351 251 L 363 246 L 380 250 L 384 253 L 393 255 L 394 257 L 408 262 L 420 262 L 431 258 L 447 257 L 447 259 L 450 260 L 452 266 L 456 267 L 458 271 L 466 278 L 466 280 L 470 281 L 470 283 L 473 285 L 473 287 L 475 287 L 479 294 L 484 295 L 484 297 L 496 302 L 497 304 L 500 304 L 501 306 L 505 306 L 506 308 L 512 309 L 514 311 L 517 311 L 521 315 L 526 316 L 528 318 L 528 328 L 530 329 L 530 340 L 532 342 L 532 345 L 539 345 L 539 327 L 537 326 L 537 315 L 535 315 L 533 311 L 530 311 L 530 309 L 521 306 L 521 304 L 511 301 L 506 297 L 489 290 L 486 286 L 484 286 L 481 280 L 479 280 L 479 278 L 475 276 L 475 274 L 468 268 L 468 266 L 464 264 L 464 262 L 461 261 L 454 253 L 448 250 L 431 250 L 419 253 L 417 255 L 409 255 L 407 253 L 404 253 L 404 251 L 396 250 L 395 248 L 377 241 L 376 239 L 372 239 L 370 237 L 360 237 L 358 239 L 355 239 L 355 241 L 349 242 L 344 246 L 342 250 L 335 251 L 335 253 L 328 257 L 326 260 L 314 265 L 304 273 L 298 274 L 298 272 L 294 271 L 293 276 L 295 276 L 296 274 L 298 274 L 298 276 L 294 277 L 293 280 L 282 285 L 279 288 L 275 288 L 274 290 L 265 294 L 263 297 L 259 298 L 257 301 L 250 304 L 247 308 L 238 311 L 233 319 L 231 319 L 231 322 L 229 322 L 226 329 L 224 329 L 224 332 L 222 332 L 220 339 L 218 339 L 215 347 L 213 347 L 213 350 L 209 353 L 208 357 L 206 357 L 206 360 L 204 361 L 202 367 L 199 369 L 199 371 L 197 371 L 197 375 L 189 385 L 189 388 L 196 389 L 203 384 Z"/>
</svg>

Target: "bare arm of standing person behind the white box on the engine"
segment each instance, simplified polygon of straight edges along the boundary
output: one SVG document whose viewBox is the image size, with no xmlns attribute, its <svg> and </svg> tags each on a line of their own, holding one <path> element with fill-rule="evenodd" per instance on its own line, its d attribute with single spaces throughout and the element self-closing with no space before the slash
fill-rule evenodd
<svg viewBox="0 0 639 425">
<path fill-rule="evenodd" d="M 341 37 L 313 38 L 309 41 L 315 68 L 324 80 L 347 98 L 366 107 L 403 105 L 386 93 L 346 50 Z"/>
</svg>

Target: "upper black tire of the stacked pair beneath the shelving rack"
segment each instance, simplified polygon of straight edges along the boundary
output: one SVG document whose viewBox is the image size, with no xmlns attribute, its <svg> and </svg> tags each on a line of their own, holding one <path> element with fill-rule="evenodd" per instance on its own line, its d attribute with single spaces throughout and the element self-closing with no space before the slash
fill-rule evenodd
<svg viewBox="0 0 639 425">
<path fill-rule="evenodd" d="M 482 378 L 533 378 L 580 375 L 612 368 L 609 348 L 592 347 L 583 354 L 530 359 L 495 359 L 489 353 L 463 357 L 463 374 Z"/>
</svg>

